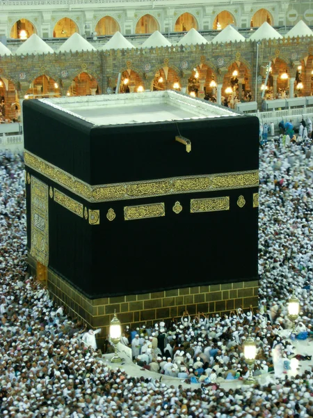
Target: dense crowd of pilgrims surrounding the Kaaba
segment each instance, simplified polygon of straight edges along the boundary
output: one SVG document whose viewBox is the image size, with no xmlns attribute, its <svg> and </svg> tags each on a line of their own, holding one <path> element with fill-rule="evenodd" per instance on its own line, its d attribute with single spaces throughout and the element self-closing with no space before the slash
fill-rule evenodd
<svg viewBox="0 0 313 418">
<path fill-rule="evenodd" d="M 129 376 L 122 365 L 110 369 L 93 332 L 67 316 L 29 276 L 24 162 L 19 155 L 1 155 L 0 416 L 312 417 L 313 372 L 305 345 L 297 355 L 304 369 L 293 378 L 287 374 L 296 355 L 294 341 L 287 338 L 292 293 L 301 309 L 296 335 L 310 341 L 312 334 L 313 163 L 308 149 L 309 138 L 289 146 L 276 138 L 260 148 L 259 308 L 223 316 L 185 311 L 181 318 L 125 328 L 122 343 L 131 347 L 138 371 L 143 369 L 141 378 Z M 255 387 L 227 390 L 223 382 L 244 383 L 247 376 L 242 345 L 249 331 L 257 343 L 259 380 Z M 109 340 L 106 350 L 111 350 Z M 275 351 L 282 366 L 277 369 Z M 164 375 L 177 377 L 177 385 L 166 385 Z"/>
</svg>

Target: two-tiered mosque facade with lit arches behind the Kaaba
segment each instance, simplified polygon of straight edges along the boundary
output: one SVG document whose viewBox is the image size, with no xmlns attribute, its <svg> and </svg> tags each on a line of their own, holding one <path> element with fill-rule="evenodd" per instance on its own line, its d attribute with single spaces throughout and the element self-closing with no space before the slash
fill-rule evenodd
<svg viewBox="0 0 313 418">
<path fill-rule="evenodd" d="M 235 85 L 239 100 L 249 92 L 260 108 L 268 62 L 271 74 L 266 88 L 272 98 L 280 91 L 290 97 L 312 95 L 309 27 L 313 9 L 309 3 L 270 1 L 266 8 L 256 1 L 199 1 L 192 8 L 185 3 L 3 1 L 0 40 L 9 52 L 0 50 L 0 95 L 6 102 L 6 118 L 15 118 L 18 106 L 14 104 L 20 99 L 106 94 L 116 88 L 120 93 L 177 89 L 199 98 L 214 95 L 220 103 L 227 88 Z M 289 36 L 299 22 L 307 31 Z M 258 38 L 257 28 L 264 24 L 275 34 Z M 216 37 L 230 27 L 236 36 L 225 33 L 218 41 Z M 155 31 L 163 33 L 168 43 L 145 47 Z M 184 42 L 188 31 L 201 39 Z M 105 47 L 116 33 L 134 47 L 119 47 L 118 42 Z M 63 47 L 73 34 L 88 41 L 88 47 L 75 47 L 80 40 Z M 38 36 L 35 42 L 42 40 L 45 47 L 27 49 L 32 36 Z"/>
</svg>

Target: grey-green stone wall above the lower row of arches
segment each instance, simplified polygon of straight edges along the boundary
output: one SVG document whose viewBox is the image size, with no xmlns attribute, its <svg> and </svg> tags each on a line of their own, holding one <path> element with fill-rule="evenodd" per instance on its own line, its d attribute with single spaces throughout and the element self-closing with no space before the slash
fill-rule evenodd
<svg viewBox="0 0 313 418">
<path fill-rule="evenodd" d="M 211 69 L 217 84 L 223 90 L 229 84 L 230 69 L 233 65 L 243 68 L 246 85 L 255 100 L 257 82 L 257 101 L 261 104 L 261 85 L 264 80 L 264 68 L 268 61 L 280 59 L 291 78 L 296 79 L 297 66 L 303 65 L 303 95 L 312 92 L 312 39 L 292 38 L 282 40 L 264 40 L 259 44 L 257 61 L 256 42 L 228 42 L 217 45 L 195 45 L 188 47 L 161 47 L 152 49 L 109 50 L 105 52 L 69 52 L 47 55 L 3 56 L 0 62 L 0 77 L 13 82 L 19 98 L 24 98 L 30 84 L 36 77 L 47 75 L 59 85 L 59 94 L 66 95 L 75 77 L 82 72 L 88 73 L 97 82 L 97 93 L 113 91 L 118 72 L 133 70 L 138 79 L 143 80 L 145 90 L 150 90 L 156 72 L 160 68 L 171 68 L 170 77 L 177 77 L 179 87 L 186 88 L 193 68 L 207 65 Z M 168 80 L 168 88 L 174 79 Z M 222 93 L 223 93 L 222 90 Z M 90 90 L 78 89 L 73 95 L 90 94 Z"/>
</svg>

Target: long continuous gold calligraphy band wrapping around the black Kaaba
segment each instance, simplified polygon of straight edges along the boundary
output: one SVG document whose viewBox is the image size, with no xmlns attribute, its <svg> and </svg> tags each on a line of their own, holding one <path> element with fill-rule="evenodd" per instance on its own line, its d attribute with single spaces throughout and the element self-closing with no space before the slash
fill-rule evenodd
<svg viewBox="0 0 313 418">
<path fill-rule="evenodd" d="M 259 186 L 258 170 L 92 186 L 29 151 L 25 151 L 24 160 L 27 167 L 92 203 Z"/>
</svg>

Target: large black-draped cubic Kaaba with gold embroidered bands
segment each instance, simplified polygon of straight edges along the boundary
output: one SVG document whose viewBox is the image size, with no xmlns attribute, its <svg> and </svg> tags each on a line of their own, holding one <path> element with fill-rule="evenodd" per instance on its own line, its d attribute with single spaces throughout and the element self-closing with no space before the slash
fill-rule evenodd
<svg viewBox="0 0 313 418">
<path fill-rule="evenodd" d="M 29 260 L 56 298 L 257 286 L 257 117 L 158 91 L 24 100 L 23 118 Z"/>
</svg>

